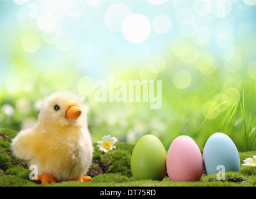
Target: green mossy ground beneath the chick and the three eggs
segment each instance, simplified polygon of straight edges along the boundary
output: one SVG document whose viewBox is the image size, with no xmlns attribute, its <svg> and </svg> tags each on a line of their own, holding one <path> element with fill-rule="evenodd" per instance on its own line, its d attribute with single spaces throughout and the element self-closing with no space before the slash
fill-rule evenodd
<svg viewBox="0 0 256 199">
<path fill-rule="evenodd" d="M 29 180 L 27 162 L 12 155 L 10 142 L 16 131 L 0 129 L 0 186 L 42 186 Z M 116 149 L 106 154 L 96 148 L 93 162 L 87 175 L 92 176 L 90 182 L 59 182 L 43 186 L 256 186 L 256 167 L 241 166 L 240 172 L 226 172 L 225 180 L 217 180 L 216 175 L 202 175 L 199 182 L 172 182 L 166 176 L 164 180 L 135 180 L 130 170 L 130 157 L 133 145 L 117 142 Z M 240 162 L 252 157 L 256 151 L 240 152 Z"/>
</svg>

